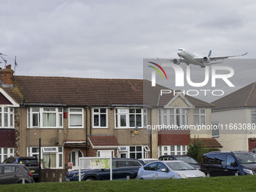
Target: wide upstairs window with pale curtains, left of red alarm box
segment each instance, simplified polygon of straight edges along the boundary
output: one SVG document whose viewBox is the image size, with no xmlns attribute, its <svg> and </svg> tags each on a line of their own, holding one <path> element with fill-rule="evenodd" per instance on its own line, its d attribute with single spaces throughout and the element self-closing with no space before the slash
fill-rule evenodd
<svg viewBox="0 0 256 192">
<path fill-rule="evenodd" d="M 28 127 L 63 127 L 62 108 L 28 108 Z"/>
</svg>

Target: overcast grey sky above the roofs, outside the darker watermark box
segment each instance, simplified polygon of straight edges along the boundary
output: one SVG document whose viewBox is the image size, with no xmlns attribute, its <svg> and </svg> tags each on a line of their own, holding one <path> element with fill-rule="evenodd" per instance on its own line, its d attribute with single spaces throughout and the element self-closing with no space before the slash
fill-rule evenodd
<svg viewBox="0 0 256 192">
<path fill-rule="evenodd" d="M 180 47 L 256 58 L 255 10 L 246 0 L 1 0 L 0 53 L 13 66 L 17 56 L 16 75 L 143 78 L 143 58 Z"/>
</svg>

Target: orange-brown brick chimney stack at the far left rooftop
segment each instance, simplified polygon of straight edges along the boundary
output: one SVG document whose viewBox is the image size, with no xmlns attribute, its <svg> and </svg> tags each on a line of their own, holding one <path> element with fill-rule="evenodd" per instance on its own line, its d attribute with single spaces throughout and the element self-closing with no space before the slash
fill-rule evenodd
<svg viewBox="0 0 256 192">
<path fill-rule="evenodd" d="M 3 87 L 13 87 L 14 70 L 11 69 L 11 65 L 6 66 L 5 69 L 0 69 L 0 84 Z"/>
</svg>

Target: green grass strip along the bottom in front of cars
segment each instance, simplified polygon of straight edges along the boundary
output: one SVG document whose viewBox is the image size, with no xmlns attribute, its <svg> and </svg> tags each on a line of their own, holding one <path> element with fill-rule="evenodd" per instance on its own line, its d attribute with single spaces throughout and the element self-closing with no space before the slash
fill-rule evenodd
<svg viewBox="0 0 256 192">
<path fill-rule="evenodd" d="M 255 191 L 256 175 L 130 181 L 2 184 L 0 191 Z"/>
</svg>

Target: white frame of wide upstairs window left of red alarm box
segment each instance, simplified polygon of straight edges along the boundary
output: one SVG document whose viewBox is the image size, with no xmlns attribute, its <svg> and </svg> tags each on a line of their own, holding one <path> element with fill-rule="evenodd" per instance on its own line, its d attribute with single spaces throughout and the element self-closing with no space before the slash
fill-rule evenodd
<svg viewBox="0 0 256 192">
<path fill-rule="evenodd" d="M 33 109 L 38 108 L 39 110 L 33 111 Z M 54 109 L 55 111 L 47 111 Z M 27 121 L 29 128 L 63 128 L 63 108 L 50 108 L 50 107 L 29 107 L 27 113 Z M 38 125 L 33 126 L 33 114 L 38 114 Z M 44 126 L 44 114 L 56 114 L 56 125 L 55 126 Z M 61 124 L 59 124 L 61 123 Z"/>
</svg>

